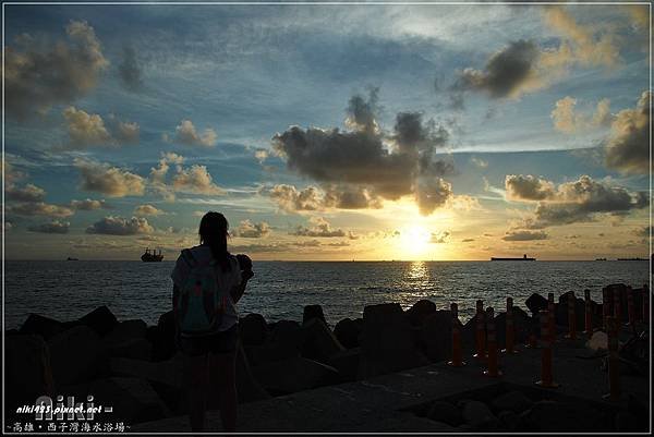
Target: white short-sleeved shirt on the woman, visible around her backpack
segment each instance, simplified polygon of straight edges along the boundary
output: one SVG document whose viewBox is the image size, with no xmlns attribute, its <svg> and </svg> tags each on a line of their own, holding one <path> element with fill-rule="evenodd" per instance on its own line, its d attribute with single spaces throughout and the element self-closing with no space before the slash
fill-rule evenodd
<svg viewBox="0 0 654 437">
<path fill-rule="evenodd" d="M 191 254 L 195 258 L 195 260 L 199 264 L 208 263 L 213 259 L 211 250 L 208 245 L 199 245 L 193 246 L 190 248 Z M 234 326 L 239 321 L 239 314 L 237 313 L 237 307 L 232 300 L 230 291 L 241 284 L 241 268 L 239 265 L 239 260 L 235 256 L 229 255 L 231 271 L 222 271 L 219 265 L 216 266 L 216 275 L 218 276 L 218 283 L 226 284 L 229 287 L 228 290 L 221 290 L 227 294 L 227 306 L 225 308 L 225 313 L 222 314 L 222 323 L 220 327 L 218 327 L 219 331 L 226 331 L 232 326 Z M 174 282 L 178 288 L 182 288 L 186 277 L 189 276 L 191 268 L 189 264 L 184 260 L 182 255 L 178 257 L 178 260 L 170 274 L 170 278 L 172 282 Z"/>
</svg>

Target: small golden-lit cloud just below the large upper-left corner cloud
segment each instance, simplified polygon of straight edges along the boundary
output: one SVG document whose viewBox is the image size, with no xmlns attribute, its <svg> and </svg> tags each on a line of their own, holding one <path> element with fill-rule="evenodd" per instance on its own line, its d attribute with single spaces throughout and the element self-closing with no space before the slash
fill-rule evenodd
<svg viewBox="0 0 654 437">
<path fill-rule="evenodd" d="M 89 114 L 72 106 L 63 110 L 63 117 L 72 148 L 117 147 L 138 142 L 140 128 L 135 122 L 116 121 L 109 129 L 99 114 Z"/>
</svg>

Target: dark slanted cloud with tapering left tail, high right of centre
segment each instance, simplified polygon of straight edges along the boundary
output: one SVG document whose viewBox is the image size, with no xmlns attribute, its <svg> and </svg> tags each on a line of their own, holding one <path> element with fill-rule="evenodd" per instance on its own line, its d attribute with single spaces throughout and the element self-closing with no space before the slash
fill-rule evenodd
<svg viewBox="0 0 654 437">
<path fill-rule="evenodd" d="M 534 74 L 538 57 L 538 48 L 533 41 L 512 41 L 495 52 L 484 70 L 463 70 L 453 90 L 485 90 L 495 98 L 514 96 Z"/>
</svg>

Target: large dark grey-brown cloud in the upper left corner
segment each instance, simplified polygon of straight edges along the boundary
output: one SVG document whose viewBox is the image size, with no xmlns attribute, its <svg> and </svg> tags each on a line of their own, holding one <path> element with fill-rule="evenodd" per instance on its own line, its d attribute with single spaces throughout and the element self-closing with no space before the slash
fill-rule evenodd
<svg viewBox="0 0 654 437">
<path fill-rule="evenodd" d="M 7 113 L 26 119 L 92 90 L 109 64 L 88 23 L 71 21 L 66 40 L 56 44 L 23 35 L 17 48 L 4 50 Z"/>
</svg>

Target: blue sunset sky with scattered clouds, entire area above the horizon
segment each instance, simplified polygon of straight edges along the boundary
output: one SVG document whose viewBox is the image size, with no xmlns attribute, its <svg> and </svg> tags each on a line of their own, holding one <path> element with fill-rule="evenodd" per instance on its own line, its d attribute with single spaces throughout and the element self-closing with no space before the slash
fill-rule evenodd
<svg viewBox="0 0 654 437">
<path fill-rule="evenodd" d="M 649 5 L 3 11 L 7 259 L 649 256 Z"/>
</svg>

